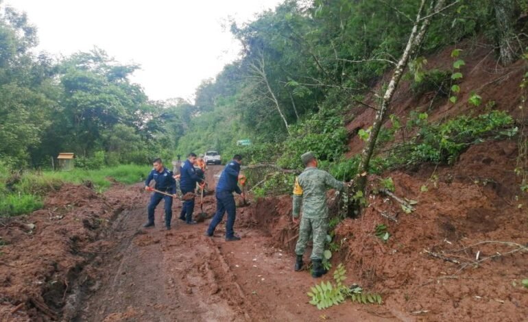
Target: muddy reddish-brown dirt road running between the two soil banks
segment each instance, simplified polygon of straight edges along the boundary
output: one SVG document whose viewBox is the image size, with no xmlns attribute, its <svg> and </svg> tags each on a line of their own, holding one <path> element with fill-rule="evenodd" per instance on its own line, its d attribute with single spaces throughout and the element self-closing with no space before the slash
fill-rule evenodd
<svg viewBox="0 0 528 322">
<path fill-rule="evenodd" d="M 210 167 L 208 179 L 219 170 Z M 185 225 L 176 219 L 167 232 L 160 227 L 161 207 L 156 227 L 142 229 L 147 197 L 115 221 L 110 238 L 117 247 L 104 257 L 101 280 L 84 294 L 75 321 L 384 320 L 354 306 L 329 313 L 307 304 L 313 279 L 307 271 L 293 272 L 292 254 L 268 246 L 269 236 L 258 229 L 235 225 L 242 240 L 226 242 L 223 225 L 208 238 L 209 220 Z M 213 201 L 206 197 L 210 214 Z M 173 210 L 179 213 L 179 202 Z"/>
</svg>

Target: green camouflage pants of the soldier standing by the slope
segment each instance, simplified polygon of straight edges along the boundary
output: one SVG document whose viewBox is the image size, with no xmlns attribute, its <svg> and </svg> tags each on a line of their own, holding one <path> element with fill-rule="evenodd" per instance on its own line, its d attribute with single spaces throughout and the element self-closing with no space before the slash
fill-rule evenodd
<svg viewBox="0 0 528 322">
<path fill-rule="evenodd" d="M 304 249 L 313 234 L 313 249 L 310 258 L 312 260 L 322 260 L 324 252 L 324 241 L 328 232 L 328 218 L 305 218 L 300 219 L 299 239 L 295 247 L 296 255 L 302 256 Z"/>
</svg>

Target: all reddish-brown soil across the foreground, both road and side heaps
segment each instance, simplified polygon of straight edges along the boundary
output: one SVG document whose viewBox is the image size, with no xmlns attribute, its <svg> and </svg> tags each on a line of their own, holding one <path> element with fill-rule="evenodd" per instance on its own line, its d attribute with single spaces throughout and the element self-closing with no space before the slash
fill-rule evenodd
<svg viewBox="0 0 528 322">
<path fill-rule="evenodd" d="M 324 311 L 307 303 L 315 284 L 309 271 L 292 271 L 297 227 L 289 196 L 239 208 L 242 240 L 226 242 L 223 224 L 208 238 L 208 220 L 179 221 L 180 201 L 171 231 L 160 227 L 161 206 L 156 227 L 142 229 L 149 195 L 141 184 L 104 195 L 64 186 L 44 210 L 1 227 L 8 243 L 1 247 L 1 321 L 523 321 L 526 253 L 505 254 L 514 244 L 468 247 L 527 243 L 527 214 L 518 204 L 528 203 L 514 201 L 515 156 L 514 143 L 488 142 L 468 149 L 455 166 L 436 169 L 434 181 L 427 182 L 430 166 L 386 173 L 396 195 L 418 201 L 416 210 L 405 214 L 392 199 L 373 197 L 361 219 L 337 226 L 341 250 L 332 260 L 346 265 L 348 283 L 381 293 L 384 303 Z M 215 199 L 204 201 L 211 216 Z M 32 234 L 27 223 L 36 225 Z M 388 226 L 387 243 L 374 236 L 379 223 Z M 486 259 L 497 252 L 504 255 Z"/>
</svg>

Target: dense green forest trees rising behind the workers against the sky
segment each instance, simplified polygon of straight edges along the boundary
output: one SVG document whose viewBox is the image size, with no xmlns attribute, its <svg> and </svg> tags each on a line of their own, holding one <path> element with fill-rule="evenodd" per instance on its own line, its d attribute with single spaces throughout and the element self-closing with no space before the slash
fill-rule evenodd
<svg viewBox="0 0 528 322">
<path fill-rule="evenodd" d="M 243 138 L 254 143 L 244 148 L 253 162 L 298 167 L 307 149 L 337 160 L 348 139 L 344 115 L 379 95 L 373 85 L 398 60 L 420 2 L 287 0 L 251 23 L 232 23 L 243 51 L 197 88 L 194 102 L 149 100 L 130 81 L 140 66 L 104 49 L 61 59 L 36 53 L 31 17 L 0 3 L 0 160 L 49 166 L 71 151 L 86 166 L 96 155 L 106 164 L 147 163 L 206 149 L 231 154 Z M 503 64 L 518 58 L 525 0 L 447 4 L 411 66 L 466 39 L 495 48 Z"/>
</svg>

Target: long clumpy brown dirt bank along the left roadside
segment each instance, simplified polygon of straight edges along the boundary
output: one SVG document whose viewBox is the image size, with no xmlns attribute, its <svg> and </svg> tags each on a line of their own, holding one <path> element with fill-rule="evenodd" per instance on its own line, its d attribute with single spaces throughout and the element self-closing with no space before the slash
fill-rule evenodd
<svg viewBox="0 0 528 322">
<path fill-rule="evenodd" d="M 86 264 L 106 246 L 99 235 L 117 213 L 134 206 L 136 195 L 110 190 L 103 196 L 65 184 L 43 209 L 0 226 L 0 320 L 67 318 L 77 281 L 90 280 Z"/>
</svg>

